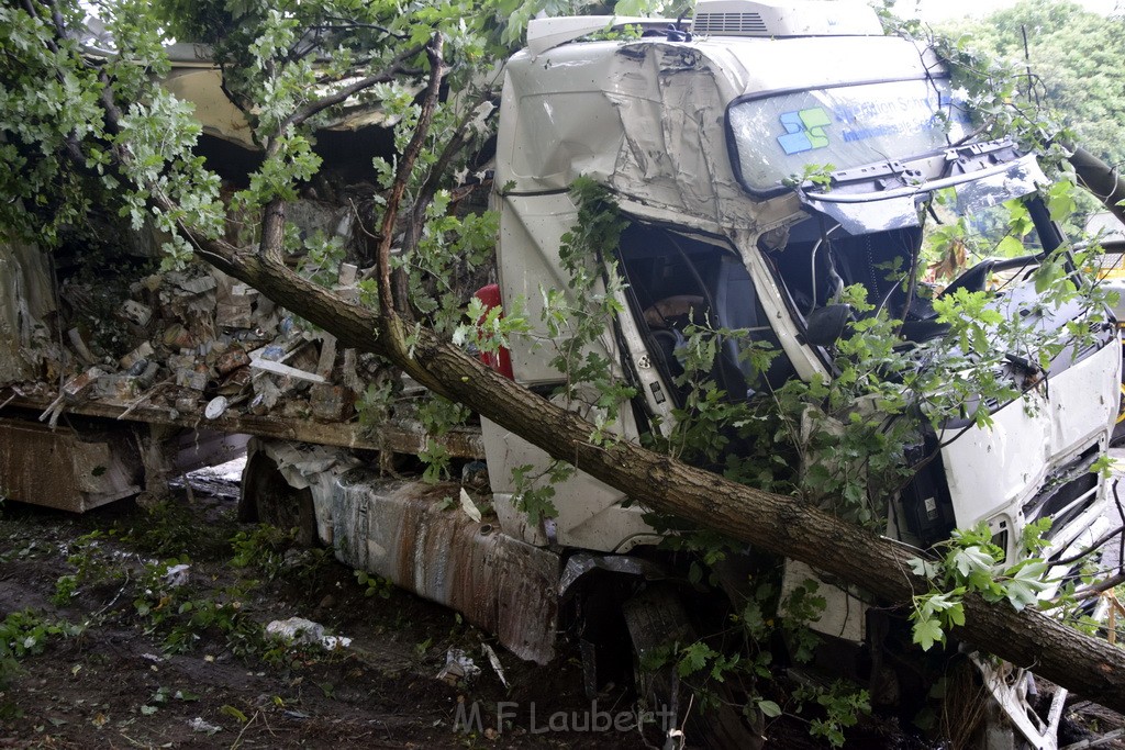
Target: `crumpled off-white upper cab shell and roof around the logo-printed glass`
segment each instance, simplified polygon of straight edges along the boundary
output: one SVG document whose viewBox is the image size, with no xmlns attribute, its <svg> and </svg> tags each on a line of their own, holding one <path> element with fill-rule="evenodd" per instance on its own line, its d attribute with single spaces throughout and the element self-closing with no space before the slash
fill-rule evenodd
<svg viewBox="0 0 1125 750">
<path fill-rule="evenodd" d="M 894 37 L 646 38 L 520 53 L 505 71 L 496 183 L 561 191 L 586 175 L 682 223 L 758 225 L 772 201 L 749 200 L 735 177 L 728 105 L 881 80 L 888 70 L 925 79 L 933 63 Z M 780 121 L 766 125 L 784 134 Z"/>
</svg>

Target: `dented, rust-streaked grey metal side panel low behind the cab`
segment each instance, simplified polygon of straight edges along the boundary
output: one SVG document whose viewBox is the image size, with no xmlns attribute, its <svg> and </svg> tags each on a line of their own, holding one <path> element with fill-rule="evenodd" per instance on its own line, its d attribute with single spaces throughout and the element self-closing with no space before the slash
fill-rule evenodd
<svg viewBox="0 0 1125 750">
<path fill-rule="evenodd" d="M 464 613 L 520 658 L 547 663 L 555 653 L 558 554 L 444 509 L 442 497 L 457 491 L 364 470 L 344 475 L 333 512 L 336 557 Z"/>
</svg>

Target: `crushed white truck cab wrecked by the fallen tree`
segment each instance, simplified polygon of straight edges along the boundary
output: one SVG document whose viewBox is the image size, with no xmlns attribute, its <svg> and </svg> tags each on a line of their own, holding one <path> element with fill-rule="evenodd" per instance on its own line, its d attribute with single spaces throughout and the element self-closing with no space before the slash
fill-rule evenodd
<svg viewBox="0 0 1125 750">
<path fill-rule="evenodd" d="M 810 16 L 819 27 L 794 20 Z M 567 188 L 585 177 L 616 200 L 628 226 L 608 260 L 624 288 L 601 291 L 616 295 L 622 313 L 592 349 L 638 391 L 636 408 L 620 409 L 624 439 L 667 435 L 675 423 L 682 332 L 669 319 L 693 309 L 777 352 L 754 371 L 728 337 L 716 379 L 731 398 L 831 378 L 848 287 L 902 322 L 906 347 L 945 333 L 933 300 L 960 289 L 991 290 L 991 309 L 1038 329 L 1087 315 L 1037 298 L 1032 274 L 1065 237 L 1038 196 L 1047 180 L 1035 156 L 973 141 L 933 51 L 882 36 L 870 9 L 704 0 L 691 35 L 576 40 L 611 20 L 532 21 L 528 49 L 505 69 L 494 206 L 502 298 L 525 300 L 537 320 L 541 289 L 567 288 L 558 249 L 578 216 Z M 1012 207 L 1026 226 L 1007 240 L 998 214 Z M 925 278 L 924 250 L 958 223 L 983 233 L 984 247 L 943 287 Z M 541 352 L 547 338 L 513 340 L 510 352 L 511 377 L 544 391 L 564 380 Z M 998 377 L 1020 395 L 966 404 L 963 419 L 908 448 L 920 469 L 890 504 L 889 536 L 926 548 L 983 523 L 1012 561 L 1024 530 L 1051 517 L 1048 563 L 1101 536 L 1106 481 L 1090 468 L 1117 414 L 1120 352 L 1108 325 L 1072 343 L 1042 371 L 1030 352 L 1004 352 Z M 981 409 L 990 428 L 970 418 Z M 511 478 L 548 459 L 487 421 L 483 430 L 505 533 L 602 560 L 640 559 L 658 537 L 624 493 L 580 472 L 556 486 L 559 518 L 530 526 Z M 1052 577 L 1070 576 L 1063 568 Z M 816 570 L 791 566 L 785 585 L 809 577 Z M 864 642 L 867 607 L 856 591 L 821 590 L 829 607 L 812 627 Z M 1054 747 L 1058 714 L 1054 725 L 1029 719 L 1024 677 L 1005 683 L 984 671 L 1019 733 Z"/>
</svg>

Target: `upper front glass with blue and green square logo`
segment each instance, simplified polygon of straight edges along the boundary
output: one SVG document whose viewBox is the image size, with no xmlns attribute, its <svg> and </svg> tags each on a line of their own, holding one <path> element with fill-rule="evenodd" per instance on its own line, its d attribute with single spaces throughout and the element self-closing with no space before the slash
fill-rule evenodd
<svg viewBox="0 0 1125 750">
<path fill-rule="evenodd" d="M 884 81 L 736 101 L 727 111 L 735 172 L 755 192 L 807 165 L 848 169 L 934 152 L 964 138 L 947 79 Z M 775 134 L 763 137 L 763 134 Z"/>
</svg>

